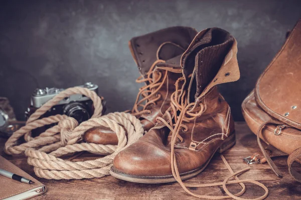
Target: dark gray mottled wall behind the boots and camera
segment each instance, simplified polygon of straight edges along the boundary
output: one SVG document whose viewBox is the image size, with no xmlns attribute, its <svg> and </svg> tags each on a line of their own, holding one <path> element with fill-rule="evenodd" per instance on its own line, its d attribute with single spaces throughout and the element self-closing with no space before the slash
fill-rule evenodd
<svg viewBox="0 0 301 200">
<path fill-rule="evenodd" d="M 128 40 L 167 26 L 218 26 L 238 41 L 241 78 L 220 86 L 240 104 L 301 17 L 301 0 L 2 0 L 0 96 L 19 119 L 36 87 L 97 83 L 108 111 L 132 107 L 139 73 Z"/>
</svg>

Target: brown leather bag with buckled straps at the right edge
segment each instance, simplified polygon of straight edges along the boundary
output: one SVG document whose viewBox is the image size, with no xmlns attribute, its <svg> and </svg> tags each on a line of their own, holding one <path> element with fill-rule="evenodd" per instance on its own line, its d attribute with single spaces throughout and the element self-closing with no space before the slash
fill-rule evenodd
<svg viewBox="0 0 301 200">
<path fill-rule="evenodd" d="M 301 163 L 301 19 L 243 101 L 242 112 L 262 153 L 249 161 L 267 161 L 282 177 L 271 157 L 288 154 L 288 171 L 301 182 L 301 174 L 291 166 L 294 161 Z M 267 149 L 260 138 L 269 144 Z"/>
</svg>

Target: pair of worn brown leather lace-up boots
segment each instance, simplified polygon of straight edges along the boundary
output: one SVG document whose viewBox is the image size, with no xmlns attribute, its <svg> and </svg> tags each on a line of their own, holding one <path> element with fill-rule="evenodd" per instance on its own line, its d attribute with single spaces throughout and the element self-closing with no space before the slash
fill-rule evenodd
<svg viewBox="0 0 301 200">
<path fill-rule="evenodd" d="M 231 110 L 217 88 L 240 77 L 235 38 L 220 28 L 198 33 L 178 26 L 129 44 L 141 72 L 138 81 L 146 83 L 131 113 L 147 132 L 116 155 L 110 174 L 141 183 L 197 175 L 216 151 L 235 144 Z M 90 135 L 105 132 L 97 131 Z"/>
</svg>

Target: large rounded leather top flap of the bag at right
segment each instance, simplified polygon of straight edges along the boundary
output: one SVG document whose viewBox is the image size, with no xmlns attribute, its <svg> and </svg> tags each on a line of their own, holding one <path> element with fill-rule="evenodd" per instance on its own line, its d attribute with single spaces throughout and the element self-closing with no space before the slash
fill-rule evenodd
<svg viewBox="0 0 301 200">
<path fill-rule="evenodd" d="M 283 123 L 301 129 L 301 19 L 286 42 L 259 76 L 255 97 L 259 106 Z M 293 108 L 296 106 L 296 108 Z M 288 115 L 285 116 L 285 113 Z"/>
</svg>

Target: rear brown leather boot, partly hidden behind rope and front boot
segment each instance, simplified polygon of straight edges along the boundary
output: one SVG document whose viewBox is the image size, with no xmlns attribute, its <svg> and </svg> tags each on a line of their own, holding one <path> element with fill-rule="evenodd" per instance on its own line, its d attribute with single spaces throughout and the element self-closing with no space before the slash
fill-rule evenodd
<svg viewBox="0 0 301 200">
<path fill-rule="evenodd" d="M 182 76 L 181 55 L 196 34 L 193 28 L 176 26 L 129 41 L 130 51 L 141 73 L 136 82 L 145 82 L 130 113 L 141 120 L 145 131 L 154 127 L 156 118 L 170 107 L 175 82 Z M 118 143 L 115 132 L 103 126 L 88 130 L 84 139 L 100 144 Z"/>
</svg>

